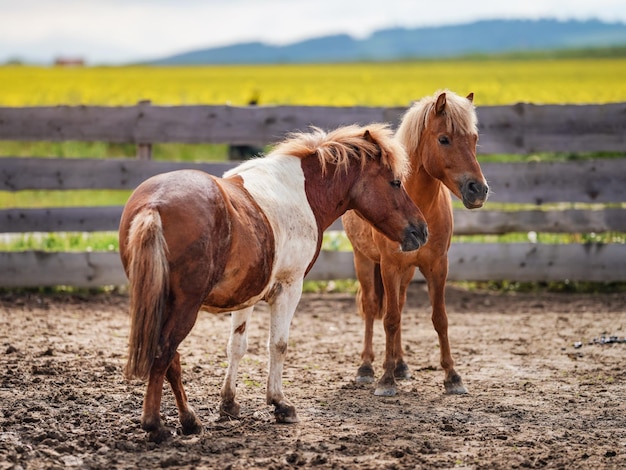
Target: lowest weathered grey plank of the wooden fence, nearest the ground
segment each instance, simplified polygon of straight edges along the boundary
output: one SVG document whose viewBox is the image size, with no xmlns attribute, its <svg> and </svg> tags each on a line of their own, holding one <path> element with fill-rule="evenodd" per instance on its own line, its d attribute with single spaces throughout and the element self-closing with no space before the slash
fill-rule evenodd
<svg viewBox="0 0 626 470">
<path fill-rule="evenodd" d="M 451 281 L 626 280 L 626 245 L 458 243 L 450 249 Z M 0 252 L 0 286 L 123 285 L 117 253 Z M 350 252 L 320 253 L 309 280 L 354 279 Z M 416 280 L 421 279 L 418 273 Z"/>
</svg>

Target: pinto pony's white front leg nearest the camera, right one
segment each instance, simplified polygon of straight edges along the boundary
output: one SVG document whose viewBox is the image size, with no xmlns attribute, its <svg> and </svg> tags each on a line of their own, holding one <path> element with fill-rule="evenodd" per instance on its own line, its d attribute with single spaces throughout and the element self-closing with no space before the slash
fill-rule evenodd
<svg viewBox="0 0 626 470">
<path fill-rule="evenodd" d="M 285 354 L 289 342 L 289 326 L 302 295 L 302 279 L 283 284 L 271 299 L 269 334 L 269 374 L 267 377 L 267 404 L 274 405 L 274 417 L 278 423 L 297 423 L 296 408 L 283 395 L 282 378 Z"/>
</svg>

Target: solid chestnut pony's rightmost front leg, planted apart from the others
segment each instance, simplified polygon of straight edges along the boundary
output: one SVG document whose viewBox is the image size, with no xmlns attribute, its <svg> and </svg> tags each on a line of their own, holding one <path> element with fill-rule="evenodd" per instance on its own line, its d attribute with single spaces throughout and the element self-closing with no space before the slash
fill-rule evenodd
<svg viewBox="0 0 626 470">
<path fill-rule="evenodd" d="M 446 312 L 445 288 L 448 276 L 448 259 L 443 257 L 431 267 L 429 273 L 424 277 L 428 282 L 428 295 L 432 305 L 432 322 L 439 336 L 439 349 L 441 353 L 441 367 L 445 372 L 443 381 L 446 393 L 463 394 L 467 393 L 461 376 L 454 370 L 454 359 L 450 351 L 450 341 L 448 339 L 448 314 Z"/>
</svg>

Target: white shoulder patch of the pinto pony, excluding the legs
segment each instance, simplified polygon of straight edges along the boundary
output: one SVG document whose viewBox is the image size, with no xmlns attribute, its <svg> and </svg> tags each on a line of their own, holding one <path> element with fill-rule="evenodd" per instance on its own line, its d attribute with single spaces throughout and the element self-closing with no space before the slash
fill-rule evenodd
<svg viewBox="0 0 626 470">
<path fill-rule="evenodd" d="M 303 277 L 315 256 L 318 229 L 304 189 L 302 160 L 270 154 L 226 172 L 239 175 L 243 185 L 269 220 L 276 242 L 276 260 L 270 285 Z"/>
</svg>

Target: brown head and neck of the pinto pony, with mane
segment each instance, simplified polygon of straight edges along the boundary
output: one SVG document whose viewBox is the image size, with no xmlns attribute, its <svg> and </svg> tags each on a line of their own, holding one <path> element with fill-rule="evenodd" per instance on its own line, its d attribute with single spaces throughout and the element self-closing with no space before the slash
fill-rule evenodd
<svg viewBox="0 0 626 470">
<path fill-rule="evenodd" d="M 272 153 L 303 159 L 307 197 L 321 225 L 354 209 L 403 251 L 426 243 L 426 220 L 403 185 L 408 157 L 388 125 L 352 125 L 329 133 L 313 128 L 292 134 Z"/>
</svg>

